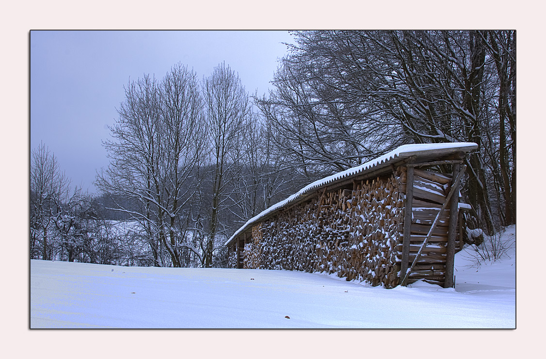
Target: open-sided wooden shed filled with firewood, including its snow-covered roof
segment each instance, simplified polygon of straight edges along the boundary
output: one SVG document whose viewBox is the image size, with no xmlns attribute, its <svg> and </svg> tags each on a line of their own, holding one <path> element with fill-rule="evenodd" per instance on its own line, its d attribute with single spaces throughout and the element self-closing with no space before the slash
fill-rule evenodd
<svg viewBox="0 0 546 359">
<path fill-rule="evenodd" d="M 465 154 L 476 148 L 403 145 L 315 181 L 239 228 L 225 242 L 229 266 L 337 273 L 387 288 L 417 279 L 452 287 L 459 210 L 468 207 L 458 187 Z"/>
</svg>

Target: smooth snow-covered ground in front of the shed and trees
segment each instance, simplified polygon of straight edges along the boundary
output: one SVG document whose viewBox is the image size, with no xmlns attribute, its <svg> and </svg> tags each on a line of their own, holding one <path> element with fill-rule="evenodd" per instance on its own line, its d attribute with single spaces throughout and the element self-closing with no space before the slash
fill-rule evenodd
<svg viewBox="0 0 546 359">
<path fill-rule="evenodd" d="M 505 237 L 515 238 L 511 227 Z M 333 275 L 259 269 L 31 261 L 31 328 L 515 328 L 515 250 L 455 289 L 383 289 Z M 288 317 L 289 318 L 288 318 Z"/>
</svg>

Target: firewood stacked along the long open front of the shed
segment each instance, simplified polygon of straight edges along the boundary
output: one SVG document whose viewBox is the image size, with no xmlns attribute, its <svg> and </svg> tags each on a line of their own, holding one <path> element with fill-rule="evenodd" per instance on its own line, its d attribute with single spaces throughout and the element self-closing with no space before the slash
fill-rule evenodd
<svg viewBox="0 0 546 359">
<path fill-rule="evenodd" d="M 354 190 L 321 191 L 254 226 L 245 268 L 336 273 L 396 286 L 405 199 L 399 175 L 360 181 Z"/>
</svg>

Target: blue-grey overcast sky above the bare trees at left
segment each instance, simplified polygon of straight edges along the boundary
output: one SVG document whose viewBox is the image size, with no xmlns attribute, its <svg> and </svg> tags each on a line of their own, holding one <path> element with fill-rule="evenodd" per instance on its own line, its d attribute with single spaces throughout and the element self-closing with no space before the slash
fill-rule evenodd
<svg viewBox="0 0 546 359">
<path fill-rule="evenodd" d="M 286 31 L 31 31 L 30 147 L 43 142 L 73 185 L 95 192 L 96 170 L 108 166 L 102 140 L 129 79 L 161 79 L 178 62 L 202 79 L 225 61 L 247 92 L 262 95 L 292 39 Z"/>
</svg>

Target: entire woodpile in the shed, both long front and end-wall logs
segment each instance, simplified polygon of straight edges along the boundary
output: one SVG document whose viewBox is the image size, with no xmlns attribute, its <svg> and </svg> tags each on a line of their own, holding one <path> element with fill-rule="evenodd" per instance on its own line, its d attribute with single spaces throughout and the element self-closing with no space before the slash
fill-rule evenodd
<svg viewBox="0 0 546 359">
<path fill-rule="evenodd" d="M 400 284 L 406 173 L 399 166 L 390 175 L 355 182 L 352 189 L 319 189 L 307 202 L 257 223 L 245 234 L 242 267 L 336 273 L 347 280 L 395 287 Z M 450 180 L 414 169 L 408 266 L 446 199 Z M 425 279 L 443 285 L 448 223 L 446 211 L 409 283 Z"/>
</svg>

